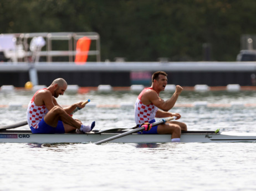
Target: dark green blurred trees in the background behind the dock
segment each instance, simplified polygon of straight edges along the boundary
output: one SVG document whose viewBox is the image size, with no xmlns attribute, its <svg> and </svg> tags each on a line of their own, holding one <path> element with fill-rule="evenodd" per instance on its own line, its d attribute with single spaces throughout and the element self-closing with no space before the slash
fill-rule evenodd
<svg viewBox="0 0 256 191">
<path fill-rule="evenodd" d="M 2 0 L 0 15 L 0 33 L 97 32 L 103 61 L 235 61 L 256 33 L 250 0 Z"/>
</svg>

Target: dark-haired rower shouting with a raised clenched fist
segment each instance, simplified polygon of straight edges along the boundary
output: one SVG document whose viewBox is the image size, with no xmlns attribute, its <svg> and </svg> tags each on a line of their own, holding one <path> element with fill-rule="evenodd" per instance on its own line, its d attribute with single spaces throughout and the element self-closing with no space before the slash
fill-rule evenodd
<svg viewBox="0 0 256 191">
<path fill-rule="evenodd" d="M 154 123 L 155 118 L 167 118 L 176 116 L 181 118 L 178 113 L 168 112 L 175 105 L 178 96 L 182 92 L 181 86 L 176 86 L 176 91 L 168 100 L 159 97 L 159 93 L 165 90 L 167 85 L 167 74 L 163 71 L 157 71 L 152 75 L 152 86 L 145 88 L 135 103 L 135 122 L 136 124 Z M 179 121 L 168 121 L 165 124 L 153 126 L 148 131 L 142 131 L 142 134 L 172 134 L 172 142 L 180 142 L 181 130 L 187 130 L 187 125 Z"/>
</svg>

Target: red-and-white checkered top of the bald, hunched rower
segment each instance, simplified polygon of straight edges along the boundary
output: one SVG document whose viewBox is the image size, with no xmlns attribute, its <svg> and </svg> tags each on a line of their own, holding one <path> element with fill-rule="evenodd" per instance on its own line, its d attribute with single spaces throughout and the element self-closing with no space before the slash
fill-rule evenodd
<svg viewBox="0 0 256 191">
<path fill-rule="evenodd" d="M 37 91 L 35 94 L 37 94 L 39 91 Z M 39 106 L 35 105 L 34 103 L 35 94 L 32 100 L 28 104 L 27 121 L 30 127 L 32 126 L 33 128 L 38 129 L 39 122 L 44 118 L 44 115 L 46 115 L 49 111 L 45 107 L 45 105 L 39 105 Z"/>
</svg>

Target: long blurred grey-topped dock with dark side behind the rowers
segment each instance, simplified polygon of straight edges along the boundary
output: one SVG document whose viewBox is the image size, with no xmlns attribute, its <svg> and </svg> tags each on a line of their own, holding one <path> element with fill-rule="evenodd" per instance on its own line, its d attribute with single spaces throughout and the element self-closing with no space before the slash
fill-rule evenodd
<svg viewBox="0 0 256 191">
<path fill-rule="evenodd" d="M 1 62 L 0 86 L 12 84 L 24 87 L 30 81 L 29 72 L 34 69 L 38 84 L 49 85 L 53 79 L 62 77 L 68 84 L 80 87 L 129 87 L 132 84 L 150 86 L 155 71 L 168 74 L 168 84 L 181 86 L 255 86 L 255 62 Z"/>
</svg>

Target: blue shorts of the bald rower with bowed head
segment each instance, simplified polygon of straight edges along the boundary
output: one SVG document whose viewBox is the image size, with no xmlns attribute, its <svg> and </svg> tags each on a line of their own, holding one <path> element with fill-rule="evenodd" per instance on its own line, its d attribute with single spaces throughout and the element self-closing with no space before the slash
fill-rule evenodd
<svg viewBox="0 0 256 191">
<path fill-rule="evenodd" d="M 44 134 L 54 134 L 54 133 L 65 133 L 64 125 L 62 121 L 58 121 L 58 125 L 56 128 L 45 123 L 44 119 L 42 119 L 38 124 L 38 129 L 30 127 L 32 133 L 44 133 Z"/>
</svg>

